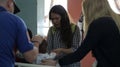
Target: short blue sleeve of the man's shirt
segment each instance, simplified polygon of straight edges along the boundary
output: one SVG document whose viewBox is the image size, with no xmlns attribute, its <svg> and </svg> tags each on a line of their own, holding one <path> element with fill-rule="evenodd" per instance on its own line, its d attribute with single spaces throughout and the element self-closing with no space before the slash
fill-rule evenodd
<svg viewBox="0 0 120 67">
<path fill-rule="evenodd" d="M 17 48 L 21 53 L 33 49 L 33 44 L 29 41 L 27 36 L 27 28 L 22 19 L 17 20 L 17 36 L 16 36 L 16 44 Z"/>
</svg>

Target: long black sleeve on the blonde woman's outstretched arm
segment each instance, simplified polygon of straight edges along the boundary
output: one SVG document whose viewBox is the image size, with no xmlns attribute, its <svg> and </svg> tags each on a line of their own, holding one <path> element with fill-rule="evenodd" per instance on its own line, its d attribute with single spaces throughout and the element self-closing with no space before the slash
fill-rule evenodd
<svg viewBox="0 0 120 67">
<path fill-rule="evenodd" d="M 60 65 L 68 65 L 80 61 L 91 49 L 97 46 L 103 29 L 101 28 L 102 25 L 96 22 L 94 21 L 90 24 L 86 38 L 81 43 L 81 46 L 74 53 L 68 54 L 59 60 Z"/>
</svg>

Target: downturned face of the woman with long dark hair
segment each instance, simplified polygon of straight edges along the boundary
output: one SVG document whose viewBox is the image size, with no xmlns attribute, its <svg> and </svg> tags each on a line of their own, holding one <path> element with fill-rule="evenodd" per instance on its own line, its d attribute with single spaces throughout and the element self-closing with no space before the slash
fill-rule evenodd
<svg viewBox="0 0 120 67">
<path fill-rule="evenodd" d="M 61 16 L 59 14 L 51 13 L 51 21 L 56 28 L 60 28 Z"/>
</svg>

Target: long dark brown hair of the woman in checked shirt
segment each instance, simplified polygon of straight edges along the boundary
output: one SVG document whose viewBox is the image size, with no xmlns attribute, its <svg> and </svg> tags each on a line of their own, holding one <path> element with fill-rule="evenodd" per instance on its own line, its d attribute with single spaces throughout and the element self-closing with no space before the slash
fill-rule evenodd
<svg viewBox="0 0 120 67">
<path fill-rule="evenodd" d="M 67 48 L 72 46 L 72 30 L 70 25 L 70 19 L 65 8 L 61 5 L 55 5 L 49 12 L 49 19 L 51 20 L 51 13 L 56 13 L 61 16 L 60 33 L 61 39 L 65 43 Z"/>
</svg>

